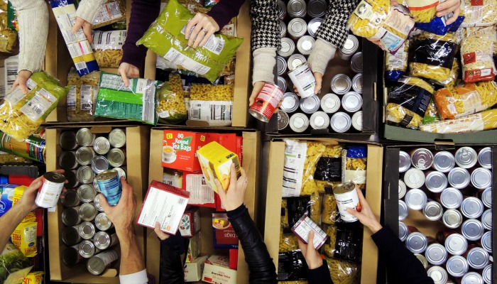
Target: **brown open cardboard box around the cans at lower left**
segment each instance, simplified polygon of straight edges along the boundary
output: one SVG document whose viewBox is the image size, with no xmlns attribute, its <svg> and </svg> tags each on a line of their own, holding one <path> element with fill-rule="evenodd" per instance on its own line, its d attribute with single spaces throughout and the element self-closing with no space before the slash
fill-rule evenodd
<svg viewBox="0 0 497 284">
<path fill-rule="evenodd" d="M 58 158 L 62 153 L 60 148 L 59 137 L 60 133 L 67 130 L 77 131 L 80 127 L 75 126 L 56 126 L 57 128 L 46 129 L 46 148 L 47 148 L 47 171 L 56 170 L 59 168 Z M 84 127 L 84 126 L 81 126 Z M 148 139 L 150 137 L 150 129 L 146 126 L 87 126 L 92 133 L 106 135 L 112 129 L 120 128 L 126 133 L 126 160 L 127 181 L 136 198 L 135 216 L 143 202 L 144 193 L 148 188 Z M 123 148 L 124 149 L 124 148 Z M 50 251 L 50 280 L 62 280 L 67 283 L 119 283 L 119 277 L 116 277 L 117 271 L 110 269 L 104 276 L 95 276 L 90 274 L 86 268 L 86 261 L 75 268 L 68 268 L 62 263 L 61 253 L 65 249 L 65 244 L 60 239 L 62 227 L 62 204 L 58 203 L 55 211 L 48 212 L 48 250 Z M 145 251 L 145 239 L 143 236 L 143 226 L 135 224 L 136 241 L 142 252 Z M 119 246 L 114 246 L 114 249 L 119 249 Z M 119 268 L 119 263 L 114 266 Z"/>
</svg>

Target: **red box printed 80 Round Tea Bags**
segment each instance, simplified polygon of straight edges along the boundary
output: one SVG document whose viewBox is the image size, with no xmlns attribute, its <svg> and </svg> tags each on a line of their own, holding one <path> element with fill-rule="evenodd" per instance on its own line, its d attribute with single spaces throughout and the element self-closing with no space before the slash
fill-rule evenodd
<svg viewBox="0 0 497 284">
<path fill-rule="evenodd" d="M 197 151 L 205 145 L 206 138 L 206 133 L 166 129 L 161 153 L 163 167 L 189 172 L 201 170 Z"/>
</svg>

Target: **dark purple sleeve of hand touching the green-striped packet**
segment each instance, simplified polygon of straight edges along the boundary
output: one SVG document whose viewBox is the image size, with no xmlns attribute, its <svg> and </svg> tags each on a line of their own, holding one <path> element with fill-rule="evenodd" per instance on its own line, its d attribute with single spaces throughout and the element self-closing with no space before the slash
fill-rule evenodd
<svg viewBox="0 0 497 284">
<path fill-rule="evenodd" d="M 128 35 L 123 45 L 122 62 L 141 67 L 147 55 L 147 48 L 136 45 L 136 42 L 145 34 L 148 27 L 159 16 L 160 0 L 133 0 L 131 3 L 131 17 L 129 19 Z"/>
</svg>

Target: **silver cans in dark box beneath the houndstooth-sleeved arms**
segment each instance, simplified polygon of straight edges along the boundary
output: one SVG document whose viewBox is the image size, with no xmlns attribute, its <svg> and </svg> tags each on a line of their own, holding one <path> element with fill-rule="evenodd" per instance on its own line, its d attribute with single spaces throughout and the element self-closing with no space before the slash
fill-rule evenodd
<svg viewBox="0 0 497 284">
<path fill-rule="evenodd" d="M 349 35 L 344 47 L 338 50 L 342 60 L 350 61 L 349 77 L 339 74 L 333 77 L 331 92 L 300 97 L 293 92 L 294 72 L 308 70 L 307 56 L 312 52 L 316 32 L 327 11 L 327 0 L 278 0 L 280 17 L 281 49 L 278 50 L 278 87 L 285 92 L 283 104 L 278 111 L 278 130 L 285 133 L 304 133 L 310 129 L 328 129 L 330 132 L 362 131 L 362 53 L 359 40 Z M 304 67 L 304 68 L 302 68 Z M 310 71 L 308 71 L 310 72 Z M 295 82 L 294 82 L 295 84 Z"/>
</svg>

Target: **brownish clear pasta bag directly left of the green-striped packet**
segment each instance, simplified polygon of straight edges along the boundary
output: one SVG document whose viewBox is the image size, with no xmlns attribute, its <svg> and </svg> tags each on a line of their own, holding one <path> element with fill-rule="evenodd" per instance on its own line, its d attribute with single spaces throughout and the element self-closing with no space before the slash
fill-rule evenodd
<svg viewBox="0 0 497 284">
<path fill-rule="evenodd" d="M 100 72 L 80 77 L 74 68 L 67 75 L 70 87 L 66 99 L 67 120 L 71 122 L 94 121 L 94 105 L 99 93 Z"/>
</svg>

